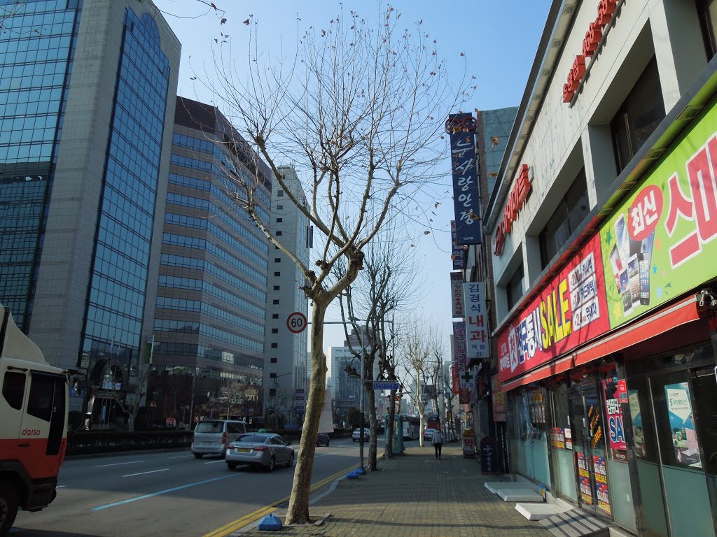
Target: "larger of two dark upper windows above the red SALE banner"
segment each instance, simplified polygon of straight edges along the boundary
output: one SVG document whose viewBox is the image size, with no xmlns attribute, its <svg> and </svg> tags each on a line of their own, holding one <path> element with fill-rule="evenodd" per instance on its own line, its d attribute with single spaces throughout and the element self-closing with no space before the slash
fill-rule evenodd
<svg viewBox="0 0 717 537">
<path fill-rule="evenodd" d="M 548 266 L 560 248 L 565 246 L 568 238 L 580 226 L 581 222 L 590 212 L 590 203 L 587 198 L 587 180 L 585 168 L 570 185 L 568 192 L 558 203 L 553 216 L 540 232 L 540 260 L 543 269 Z"/>
</svg>

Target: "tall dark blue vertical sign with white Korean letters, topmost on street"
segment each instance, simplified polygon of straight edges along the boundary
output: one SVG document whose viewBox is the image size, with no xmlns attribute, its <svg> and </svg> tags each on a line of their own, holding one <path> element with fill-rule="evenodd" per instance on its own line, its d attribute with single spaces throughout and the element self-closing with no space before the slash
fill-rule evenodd
<svg viewBox="0 0 717 537">
<path fill-rule="evenodd" d="M 451 114 L 446 121 L 450 134 L 453 175 L 456 244 L 480 244 L 480 196 L 475 155 L 475 130 L 478 122 L 470 113 Z"/>
</svg>

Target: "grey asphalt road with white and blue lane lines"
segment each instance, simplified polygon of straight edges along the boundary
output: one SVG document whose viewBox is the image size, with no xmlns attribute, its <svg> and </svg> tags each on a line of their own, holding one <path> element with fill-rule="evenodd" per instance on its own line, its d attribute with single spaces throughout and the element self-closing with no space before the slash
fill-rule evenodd
<svg viewBox="0 0 717 537">
<path fill-rule="evenodd" d="M 351 439 L 316 448 L 312 483 L 358 462 Z M 195 459 L 189 450 L 66 460 L 57 498 L 38 513 L 19 512 L 10 535 L 201 537 L 286 498 L 293 475 L 278 466 L 272 473 L 230 471 L 222 458 Z"/>
</svg>

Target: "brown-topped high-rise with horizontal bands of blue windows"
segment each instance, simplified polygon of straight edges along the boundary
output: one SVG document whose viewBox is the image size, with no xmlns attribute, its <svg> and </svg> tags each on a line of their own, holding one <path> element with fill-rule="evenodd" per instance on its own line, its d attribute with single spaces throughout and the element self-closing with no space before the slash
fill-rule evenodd
<svg viewBox="0 0 717 537">
<path fill-rule="evenodd" d="M 159 418 L 261 415 L 270 170 L 216 107 L 177 97 L 154 315 Z M 241 178 L 241 180 L 239 180 Z M 305 348 L 305 344 L 304 344 Z"/>
</svg>

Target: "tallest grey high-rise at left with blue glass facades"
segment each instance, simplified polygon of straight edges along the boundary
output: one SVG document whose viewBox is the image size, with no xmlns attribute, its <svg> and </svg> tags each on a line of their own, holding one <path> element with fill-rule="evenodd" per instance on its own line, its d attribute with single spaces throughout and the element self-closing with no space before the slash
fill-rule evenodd
<svg viewBox="0 0 717 537">
<path fill-rule="evenodd" d="M 152 330 L 181 45 L 151 2 L 7 9 L 0 301 L 50 363 L 125 397 Z"/>
</svg>

